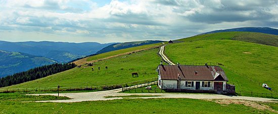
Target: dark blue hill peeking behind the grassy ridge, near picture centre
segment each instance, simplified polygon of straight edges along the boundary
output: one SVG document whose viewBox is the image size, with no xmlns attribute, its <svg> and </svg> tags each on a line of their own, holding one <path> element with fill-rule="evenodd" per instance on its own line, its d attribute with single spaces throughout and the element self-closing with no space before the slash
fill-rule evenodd
<svg viewBox="0 0 278 114">
<path fill-rule="evenodd" d="M 103 48 L 102 50 L 98 51 L 96 54 L 101 54 L 101 53 L 106 53 L 114 50 L 126 49 L 126 48 L 131 48 L 136 46 L 156 44 L 161 42 L 164 41 L 138 41 L 138 42 L 116 43 Z"/>
</svg>

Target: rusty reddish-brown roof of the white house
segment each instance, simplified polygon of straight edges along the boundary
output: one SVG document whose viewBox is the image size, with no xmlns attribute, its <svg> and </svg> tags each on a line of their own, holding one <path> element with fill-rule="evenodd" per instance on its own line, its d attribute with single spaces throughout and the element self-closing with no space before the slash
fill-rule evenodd
<svg viewBox="0 0 278 114">
<path fill-rule="evenodd" d="M 228 81 L 225 72 L 219 66 L 197 65 L 158 65 L 162 80 L 187 81 Z M 216 73 L 217 72 L 217 73 Z"/>
</svg>

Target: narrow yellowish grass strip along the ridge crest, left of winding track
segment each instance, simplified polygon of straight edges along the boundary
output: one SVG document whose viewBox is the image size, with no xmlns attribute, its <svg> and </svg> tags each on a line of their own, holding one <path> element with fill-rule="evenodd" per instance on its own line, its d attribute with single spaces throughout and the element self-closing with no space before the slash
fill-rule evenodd
<svg viewBox="0 0 278 114">
<path fill-rule="evenodd" d="M 110 56 L 114 56 L 114 55 L 118 55 L 118 54 L 122 54 L 122 53 L 126 53 L 126 52 L 131 52 L 131 51 L 135 51 L 135 50 L 141 50 L 141 49 L 145 49 L 145 48 L 159 46 L 159 45 L 161 45 L 161 43 L 137 46 L 137 47 L 121 49 L 121 50 L 115 50 L 115 51 L 102 53 L 102 54 L 95 55 L 95 56 L 90 56 L 89 58 L 86 59 L 86 61 L 99 60 L 102 58 L 106 58 L 106 57 L 110 57 Z"/>
</svg>

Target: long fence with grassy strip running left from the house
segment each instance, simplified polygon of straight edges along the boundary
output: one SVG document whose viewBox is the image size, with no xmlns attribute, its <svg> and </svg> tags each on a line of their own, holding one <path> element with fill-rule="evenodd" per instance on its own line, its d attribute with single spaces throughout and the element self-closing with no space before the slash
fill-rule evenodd
<svg viewBox="0 0 278 114">
<path fill-rule="evenodd" d="M 123 87 L 132 87 L 135 85 L 142 85 L 145 83 L 151 83 L 157 81 L 158 78 L 150 78 L 150 79 L 144 79 L 129 83 L 122 83 L 122 84 L 114 84 L 114 85 L 102 85 L 97 86 L 89 82 L 82 83 L 78 86 L 74 87 L 60 87 L 59 91 L 81 91 L 81 90 L 90 90 L 90 91 L 103 91 L 103 90 L 112 90 L 112 89 L 119 89 Z M 60 85 L 62 86 L 62 85 Z M 0 93 L 12 93 L 12 92 L 49 92 L 58 91 L 57 87 L 37 87 L 37 88 L 14 88 L 14 89 L 2 89 L 0 90 Z"/>
</svg>

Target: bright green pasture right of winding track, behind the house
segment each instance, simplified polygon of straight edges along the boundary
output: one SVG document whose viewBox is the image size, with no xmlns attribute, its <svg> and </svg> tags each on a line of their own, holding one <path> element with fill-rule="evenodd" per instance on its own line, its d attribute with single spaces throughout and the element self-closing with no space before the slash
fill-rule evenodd
<svg viewBox="0 0 278 114">
<path fill-rule="evenodd" d="M 278 64 L 278 48 L 248 42 L 231 40 L 205 40 L 172 44 L 165 47 L 165 53 L 180 64 L 218 62 L 243 74 L 224 71 L 229 83 L 235 84 L 237 90 L 267 92 L 249 79 L 266 83 L 273 90 L 278 89 L 276 82 Z M 268 91 L 270 92 L 270 91 Z"/>
</svg>

